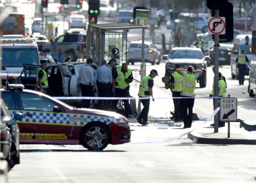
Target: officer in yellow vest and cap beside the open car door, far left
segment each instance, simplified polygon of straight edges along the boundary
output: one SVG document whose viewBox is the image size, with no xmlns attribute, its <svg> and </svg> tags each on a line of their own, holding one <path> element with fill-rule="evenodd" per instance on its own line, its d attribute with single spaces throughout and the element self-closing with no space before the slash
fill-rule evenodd
<svg viewBox="0 0 256 183">
<path fill-rule="evenodd" d="M 47 93 L 48 89 L 48 78 L 44 68 L 47 65 L 47 59 L 40 60 L 41 66 L 37 70 L 36 86 L 37 90 L 43 93 Z"/>
</svg>

